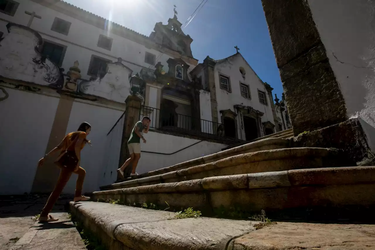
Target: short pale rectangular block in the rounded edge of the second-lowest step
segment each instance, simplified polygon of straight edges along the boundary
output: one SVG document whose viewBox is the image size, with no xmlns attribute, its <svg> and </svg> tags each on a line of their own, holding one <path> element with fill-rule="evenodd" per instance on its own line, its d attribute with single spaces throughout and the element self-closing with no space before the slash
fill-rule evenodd
<svg viewBox="0 0 375 250">
<path fill-rule="evenodd" d="M 249 188 L 289 187 L 288 171 L 248 174 Z"/>
</svg>

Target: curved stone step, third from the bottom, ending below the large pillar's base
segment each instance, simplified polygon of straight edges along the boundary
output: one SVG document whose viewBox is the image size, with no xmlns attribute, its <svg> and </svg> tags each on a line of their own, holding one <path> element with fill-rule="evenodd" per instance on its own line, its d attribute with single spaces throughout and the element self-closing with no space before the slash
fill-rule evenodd
<svg viewBox="0 0 375 250">
<path fill-rule="evenodd" d="M 268 139 L 271 140 L 271 139 Z M 278 139 L 281 140 L 281 139 Z M 272 172 L 317 167 L 353 166 L 344 160 L 338 149 L 327 148 L 284 148 L 238 154 L 224 159 L 175 170 L 159 175 L 118 182 L 101 187 L 113 190 L 143 185 L 202 179 L 210 176 L 238 175 L 245 173 Z"/>
</svg>

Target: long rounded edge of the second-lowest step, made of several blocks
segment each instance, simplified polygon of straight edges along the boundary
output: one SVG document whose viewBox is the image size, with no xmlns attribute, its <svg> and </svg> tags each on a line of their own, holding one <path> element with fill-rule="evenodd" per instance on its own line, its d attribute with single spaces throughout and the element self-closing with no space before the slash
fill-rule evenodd
<svg viewBox="0 0 375 250">
<path fill-rule="evenodd" d="M 355 176 L 355 178 L 353 178 Z M 212 176 L 190 181 L 96 191 L 93 195 L 133 193 L 179 193 L 243 188 L 278 188 L 306 185 L 358 184 L 375 181 L 375 166 L 294 169 L 241 175 Z"/>
</svg>

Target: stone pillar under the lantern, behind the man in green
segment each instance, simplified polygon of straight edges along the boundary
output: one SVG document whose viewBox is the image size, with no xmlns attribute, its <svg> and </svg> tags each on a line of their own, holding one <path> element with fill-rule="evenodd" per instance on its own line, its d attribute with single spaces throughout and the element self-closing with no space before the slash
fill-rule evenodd
<svg viewBox="0 0 375 250">
<path fill-rule="evenodd" d="M 126 110 L 124 115 L 124 127 L 122 131 L 121 138 L 121 149 L 120 149 L 120 159 L 118 161 L 118 167 L 130 157 L 129 150 L 127 149 L 127 141 L 129 140 L 130 133 L 132 132 L 134 125 L 139 121 L 139 111 L 141 110 L 141 99 L 137 96 L 129 95 L 126 100 Z M 124 170 L 124 175 L 130 175 L 131 164 Z M 118 176 L 117 176 L 118 179 Z"/>
</svg>

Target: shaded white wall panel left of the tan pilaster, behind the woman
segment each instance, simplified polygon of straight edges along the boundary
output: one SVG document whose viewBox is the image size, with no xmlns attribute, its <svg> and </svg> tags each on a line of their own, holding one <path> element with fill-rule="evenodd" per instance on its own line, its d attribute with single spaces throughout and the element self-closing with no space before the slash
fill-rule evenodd
<svg viewBox="0 0 375 250">
<path fill-rule="evenodd" d="M 30 193 L 58 98 L 5 88 L 0 102 L 0 194 Z"/>
</svg>

